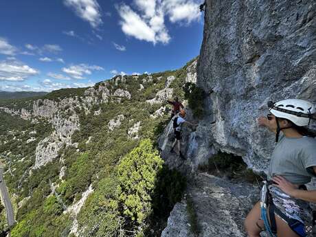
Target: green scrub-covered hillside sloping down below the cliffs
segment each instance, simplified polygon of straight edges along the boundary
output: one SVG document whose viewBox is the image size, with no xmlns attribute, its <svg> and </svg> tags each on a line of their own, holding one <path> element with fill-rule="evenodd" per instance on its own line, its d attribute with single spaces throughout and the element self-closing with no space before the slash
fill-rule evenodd
<svg viewBox="0 0 316 237">
<path fill-rule="evenodd" d="M 169 114 L 150 115 L 166 102 L 149 104 L 146 100 L 165 88 L 168 76 L 175 76 L 170 88 L 183 99 L 187 66 L 153 74 L 147 81 L 144 74 L 125 76 L 124 82 L 115 83 L 113 78 L 95 84 L 95 91 L 104 86 L 111 93 L 124 89 L 131 93 L 131 99 L 118 102 L 113 97 L 109 102 L 93 104 L 89 113 L 78 104 L 69 104 L 73 110 L 60 114 L 76 113 L 80 130 L 72 135 L 71 144 L 59 150 L 58 157 L 37 169 L 36 146 L 54 132 L 54 126 L 47 118 L 32 122 L 1 112 L 1 124 L 6 125 L 0 126 L 0 154 L 17 221 L 11 236 L 74 236 L 74 222 L 78 223 L 79 236 L 160 236 L 174 203 L 181 199 L 185 179 L 163 165 L 155 148 Z M 85 90 L 53 91 L 43 99 L 60 102 L 77 96 L 84 100 Z M 32 100 L 21 100 L 5 106 L 16 110 L 25 106 L 32 111 L 32 104 Z M 118 115 L 124 117 L 120 126 L 109 129 L 110 120 Z M 137 137 L 131 137 L 128 131 L 137 123 Z M 61 170 L 65 170 L 63 175 Z M 69 211 L 89 187 L 93 192 L 80 212 Z"/>
</svg>

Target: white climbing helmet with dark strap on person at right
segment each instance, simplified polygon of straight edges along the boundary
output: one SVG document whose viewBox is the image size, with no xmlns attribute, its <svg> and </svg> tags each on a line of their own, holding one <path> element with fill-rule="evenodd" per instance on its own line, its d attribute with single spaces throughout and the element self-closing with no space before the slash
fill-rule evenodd
<svg viewBox="0 0 316 237">
<path fill-rule="evenodd" d="M 316 113 L 315 105 L 306 100 L 288 99 L 273 103 L 268 102 L 269 111 L 275 117 L 290 120 L 297 126 L 307 126 Z"/>
</svg>

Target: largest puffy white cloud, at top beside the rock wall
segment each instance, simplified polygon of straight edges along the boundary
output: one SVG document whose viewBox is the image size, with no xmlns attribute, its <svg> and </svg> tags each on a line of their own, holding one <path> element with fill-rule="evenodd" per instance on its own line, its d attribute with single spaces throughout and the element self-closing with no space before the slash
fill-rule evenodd
<svg viewBox="0 0 316 237">
<path fill-rule="evenodd" d="M 201 19 L 199 0 L 134 0 L 133 10 L 122 3 L 117 7 L 120 14 L 122 31 L 141 41 L 167 44 L 170 35 L 165 18 L 171 23 L 186 23 Z"/>
</svg>

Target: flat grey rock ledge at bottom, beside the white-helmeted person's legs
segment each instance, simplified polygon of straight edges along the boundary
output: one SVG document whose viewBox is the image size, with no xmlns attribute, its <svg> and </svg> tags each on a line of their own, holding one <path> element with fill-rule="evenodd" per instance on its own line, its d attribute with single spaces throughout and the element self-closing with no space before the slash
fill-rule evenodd
<svg viewBox="0 0 316 237">
<path fill-rule="evenodd" d="M 161 237 L 191 237 L 196 224 L 199 237 L 246 237 L 243 221 L 260 190 L 247 183 L 232 183 L 210 174 L 197 174 L 189 184 L 185 199 L 177 203 L 168 218 Z M 196 223 L 190 223 L 187 199 L 192 202 Z"/>
</svg>

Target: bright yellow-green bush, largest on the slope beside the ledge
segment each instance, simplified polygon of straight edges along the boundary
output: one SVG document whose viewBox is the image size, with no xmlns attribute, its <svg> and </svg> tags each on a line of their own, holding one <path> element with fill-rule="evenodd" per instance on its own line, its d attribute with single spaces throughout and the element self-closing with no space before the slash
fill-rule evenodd
<svg viewBox="0 0 316 237">
<path fill-rule="evenodd" d="M 150 215 L 150 196 L 162 163 L 158 151 L 149 139 L 145 139 L 122 159 L 117 168 L 124 215 L 135 223 L 142 223 Z"/>
</svg>

